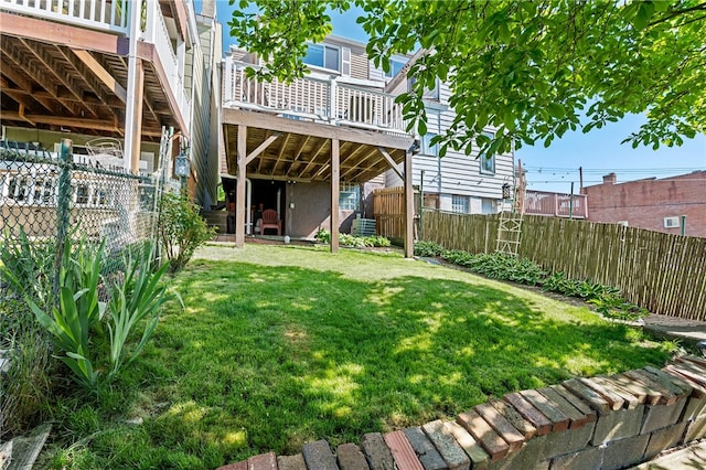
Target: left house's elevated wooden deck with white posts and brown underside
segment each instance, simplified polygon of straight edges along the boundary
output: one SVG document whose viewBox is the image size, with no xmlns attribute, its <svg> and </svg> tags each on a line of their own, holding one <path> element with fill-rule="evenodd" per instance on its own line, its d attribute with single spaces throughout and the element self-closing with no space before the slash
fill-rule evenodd
<svg viewBox="0 0 706 470">
<path fill-rule="evenodd" d="M 150 173 L 172 127 L 190 149 L 196 201 L 214 200 L 221 32 L 214 1 L 203 6 L 196 15 L 191 0 L 0 0 L 2 141 L 55 157 L 65 138 L 78 154 L 115 139 L 125 169 Z M 7 184 L 0 193 L 17 203 Z"/>
</svg>

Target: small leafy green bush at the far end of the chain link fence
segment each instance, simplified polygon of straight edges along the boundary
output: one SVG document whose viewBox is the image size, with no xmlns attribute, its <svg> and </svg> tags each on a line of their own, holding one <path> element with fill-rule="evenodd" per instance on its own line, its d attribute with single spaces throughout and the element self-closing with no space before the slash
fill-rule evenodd
<svg viewBox="0 0 706 470">
<path fill-rule="evenodd" d="M 199 214 L 199 206 L 183 194 L 165 193 L 160 201 L 158 234 L 170 271 L 181 270 L 196 248 L 212 239 L 216 229 L 208 227 Z"/>
</svg>

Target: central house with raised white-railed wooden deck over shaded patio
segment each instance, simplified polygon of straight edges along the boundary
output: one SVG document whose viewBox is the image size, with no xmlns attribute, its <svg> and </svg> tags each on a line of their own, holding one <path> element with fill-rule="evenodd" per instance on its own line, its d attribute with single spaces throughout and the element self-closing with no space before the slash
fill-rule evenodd
<svg viewBox="0 0 706 470">
<path fill-rule="evenodd" d="M 365 183 L 382 185 L 386 170 L 409 160 L 414 136 L 365 44 L 329 36 L 303 61 L 310 73 L 284 84 L 248 78 L 246 68 L 263 64 L 247 51 L 232 47 L 225 58 L 221 175 L 237 244 L 260 203 L 277 211 L 282 235 L 346 231 L 363 213 Z"/>
</svg>

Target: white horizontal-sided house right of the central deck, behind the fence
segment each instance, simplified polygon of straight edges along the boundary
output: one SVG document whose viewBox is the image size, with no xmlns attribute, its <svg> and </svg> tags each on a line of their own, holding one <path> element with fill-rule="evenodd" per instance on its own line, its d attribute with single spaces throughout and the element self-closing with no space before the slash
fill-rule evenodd
<svg viewBox="0 0 706 470">
<path fill-rule="evenodd" d="M 386 90 L 398 95 L 410 87 L 406 77 L 406 62 L 414 57 L 394 57 L 391 73 L 386 76 Z M 394 75 L 393 75 L 394 74 Z M 469 156 L 463 151 L 449 149 L 443 158 L 439 158 L 439 146 L 431 146 L 431 138 L 445 133 L 456 114 L 449 107 L 451 90 L 448 84 L 438 82 L 434 89 L 424 96 L 427 111 L 427 135 L 421 136 L 420 153 L 413 158 L 413 184 L 425 194 L 425 206 L 464 214 L 494 214 L 502 206 L 502 186 L 514 186 L 514 156 L 496 154 L 486 158 L 474 147 Z M 493 137 L 494 129 L 488 128 L 484 133 Z M 424 175 L 424 179 L 422 179 Z M 393 171 L 385 174 L 386 186 L 397 186 L 400 180 Z"/>
</svg>

